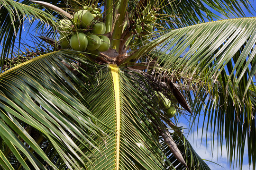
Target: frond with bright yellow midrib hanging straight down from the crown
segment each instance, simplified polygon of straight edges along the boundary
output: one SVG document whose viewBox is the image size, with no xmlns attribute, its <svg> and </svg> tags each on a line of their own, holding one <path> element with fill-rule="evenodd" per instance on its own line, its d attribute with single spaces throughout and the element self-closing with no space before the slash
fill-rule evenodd
<svg viewBox="0 0 256 170">
<path fill-rule="evenodd" d="M 91 105 L 90 110 L 107 127 L 100 126 L 108 135 L 102 141 L 104 154 L 93 152 L 96 156 L 92 164 L 96 170 L 143 169 L 165 170 L 170 162 L 163 164 L 162 153 L 154 124 L 146 117 L 146 101 L 139 86 L 132 80 L 131 73 L 125 69 L 103 66 L 93 89 L 85 97 Z M 117 77 L 112 74 L 115 72 Z"/>
</svg>

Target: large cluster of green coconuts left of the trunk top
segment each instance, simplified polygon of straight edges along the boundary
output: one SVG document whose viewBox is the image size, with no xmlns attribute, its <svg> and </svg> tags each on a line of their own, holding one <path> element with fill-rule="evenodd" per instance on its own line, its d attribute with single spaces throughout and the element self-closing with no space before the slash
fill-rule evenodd
<svg viewBox="0 0 256 170">
<path fill-rule="evenodd" d="M 106 26 L 100 18 L 100 9 L 84 6 L 74 14 L 73 20 L 60 20 L 59 42 L 62 49 L 107 51 L 110 48 L 110 39 L 103 35 Z"/>
</svg>

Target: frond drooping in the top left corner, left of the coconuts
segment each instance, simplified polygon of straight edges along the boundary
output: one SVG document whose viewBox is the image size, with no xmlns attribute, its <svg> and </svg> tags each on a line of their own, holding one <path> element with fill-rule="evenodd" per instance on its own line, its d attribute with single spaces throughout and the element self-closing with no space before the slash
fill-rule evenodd
<svg viewBox="0 0 256 170">
<path fill-rule="evenodd" d="M 1 72 L 4 60 L 12 56 L 14 49 L 19 51 L 24 25 L 28 23 L 31 26 L 38 19 L 46 25 L 56 27 L 54 16 L 30 4 L 31 2 L 26 0 L 22 2 L 0 0 L 0 42 L 3 44 L 0 57 Z M 41 24 L 41 27 L 45 27 L 44 24 Z M 16 41 L 18 45 L 15 44 Z"/>
</svg>

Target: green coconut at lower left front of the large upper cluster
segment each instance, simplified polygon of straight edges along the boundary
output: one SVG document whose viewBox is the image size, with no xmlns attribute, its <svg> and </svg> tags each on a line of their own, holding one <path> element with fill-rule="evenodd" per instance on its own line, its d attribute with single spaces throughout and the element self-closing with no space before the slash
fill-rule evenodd
<svg viewBox="0 0 256 170">
<path fill-rule="evenodd" d="M 78 33 L 74 34 L 70 38 L 70 46 L 77 51 L 85 51 L 88 45 L 88 40 L 85 34 Z"/>
</svg>

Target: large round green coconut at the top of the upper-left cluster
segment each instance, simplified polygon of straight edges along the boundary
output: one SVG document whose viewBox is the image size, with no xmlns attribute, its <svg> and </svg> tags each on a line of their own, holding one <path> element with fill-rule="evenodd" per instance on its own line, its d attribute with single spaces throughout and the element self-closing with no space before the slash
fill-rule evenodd
<svg viewBox="0 0 256 170">
<path fill-rule="evenodd" d="M 73 20 L 76 25 L 81 25 L 82 27 L 90 26 L 94 17 L 88 10 L 79 10 L 74 14 Z"/>
</svg>

